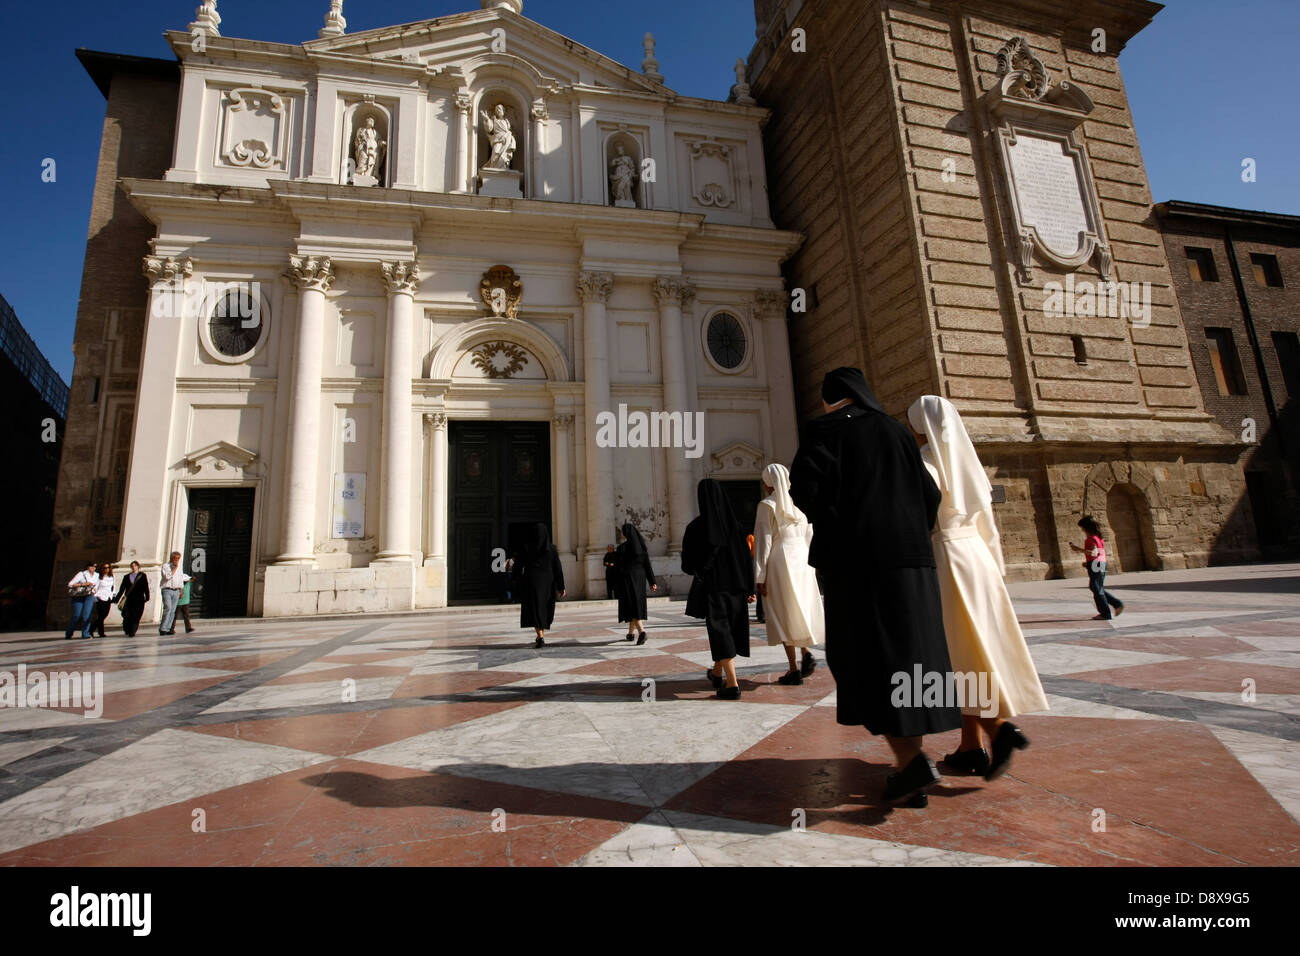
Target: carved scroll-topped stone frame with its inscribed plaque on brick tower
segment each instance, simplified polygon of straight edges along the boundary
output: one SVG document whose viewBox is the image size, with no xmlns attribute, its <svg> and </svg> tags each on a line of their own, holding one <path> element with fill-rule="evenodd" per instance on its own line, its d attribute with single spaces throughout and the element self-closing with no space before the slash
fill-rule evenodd
<svg viewBox="0 0 1300 956">
<path fill-rule="evenodd" d="M 984 105 L 1015 221 L 1013 254 L 1020 281 L 1032 281 L 1035 254 L 1062 271 L 1096 259 L 1101 277 L 1110 278 L 1101 206 L 1079 133 L 1092 99 L 1069 81 L 1052 83 L 1023 36 L 1013 36 L 998 51 L 997 75 Z"/>
</svg>

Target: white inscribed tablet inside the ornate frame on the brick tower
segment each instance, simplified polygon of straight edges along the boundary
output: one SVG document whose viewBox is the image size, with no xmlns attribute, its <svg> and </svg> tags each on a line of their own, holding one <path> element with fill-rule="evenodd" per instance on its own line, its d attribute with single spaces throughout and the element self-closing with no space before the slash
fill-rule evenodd
<svg viewBox="0 0 1300 956">
<path fill-rule="evenodd" d="M 1083 204 L 1083 183 L 1075 159 L 1060 139 L 1031 137 L 1017 130 L 1006 144 L 1020 224 L 1039 232 L 1049 252 L 1070 259 L 1083 251 L 1080 233 L 1091 233 Z"/>
</svg>

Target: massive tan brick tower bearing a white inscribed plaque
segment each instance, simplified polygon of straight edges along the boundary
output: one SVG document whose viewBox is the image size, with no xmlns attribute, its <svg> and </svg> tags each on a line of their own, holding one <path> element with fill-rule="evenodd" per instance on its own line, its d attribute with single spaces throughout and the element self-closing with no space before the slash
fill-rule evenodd
<svg viewBox="0 0 1300 956">
<path fill-rule="evenodd" d="M 772 216 L 806 237 L 800 414 L 846 363 L 892 414 L 952 399 L 1013 578 L 1082 575 L 1083 512 L 1119 570 L 1253 557 L 1245 445 L 1201 399 L 1117 62 L 1160 5 L 754 8 Z"/>
</svg>

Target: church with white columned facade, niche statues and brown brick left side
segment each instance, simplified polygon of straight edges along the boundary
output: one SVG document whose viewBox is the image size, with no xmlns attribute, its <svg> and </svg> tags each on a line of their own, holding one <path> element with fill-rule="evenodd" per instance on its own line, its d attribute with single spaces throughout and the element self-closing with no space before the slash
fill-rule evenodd
<svg viewBox="0 0 1300 956">
<path fill-rule="evenodd" d="M 580 597 L 630 518 L 680 591 L 696 480 L 744 505 L 794 453 L 767 111 L 519 0 L 221 29 L 208 0 L 177 62 L 82 53 L 108 118 L 61 559 L 181 550 L 203 614 L 426 607 L 495 600 L 541 522 Z"/>
</svg>

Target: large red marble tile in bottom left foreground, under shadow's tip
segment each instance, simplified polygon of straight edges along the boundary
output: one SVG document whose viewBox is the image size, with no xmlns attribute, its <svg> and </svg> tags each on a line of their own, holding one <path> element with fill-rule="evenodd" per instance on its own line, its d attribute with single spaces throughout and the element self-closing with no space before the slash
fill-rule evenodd
<svg viewBox="0 0 1300 956">
<path fill-rule="evenodd" d="M 191 830 L 195 808 L 207 832 Z M 645 816 L 610 800 L 334 760 L 25 847 L 0 866 L 566 865 Z"/>
</svg>

